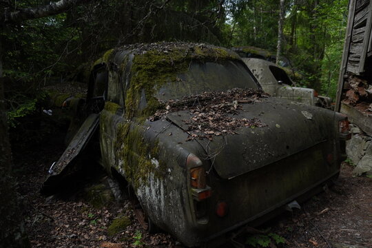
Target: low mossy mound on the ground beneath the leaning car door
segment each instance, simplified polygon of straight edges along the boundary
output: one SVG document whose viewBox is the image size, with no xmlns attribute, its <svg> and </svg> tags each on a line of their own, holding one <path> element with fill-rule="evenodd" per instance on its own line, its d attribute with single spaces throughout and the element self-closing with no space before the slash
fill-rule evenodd
<svg viewBox="0 0 372 248">
<path fill-rule="evenodd" d="M 101 183 L 86 189 L 85 200 L 90 203 L 94 208 L 101 208 L 112 203 L 115 198 L 110 189 Z"/>
</svg>

